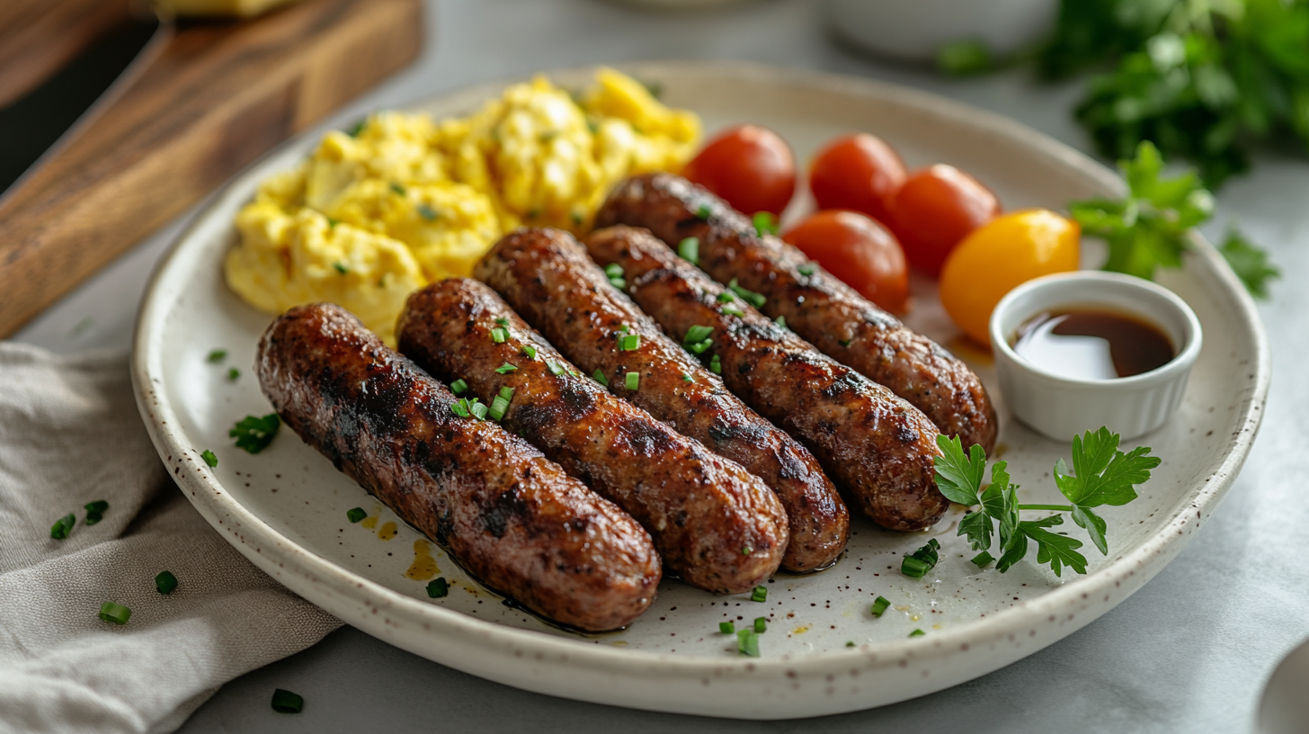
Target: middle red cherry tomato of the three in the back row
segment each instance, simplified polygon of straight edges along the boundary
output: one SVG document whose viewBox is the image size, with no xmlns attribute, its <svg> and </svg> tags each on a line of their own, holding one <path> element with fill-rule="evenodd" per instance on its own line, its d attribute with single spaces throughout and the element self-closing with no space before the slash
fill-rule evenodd
<svg viewBox="0 0 1309 734">
<path fill-rule="evenodd" d="M 809 166 L 818 208 L 851 208 L 888 222 L 888 199 L 905 184 L 905 163 L 881 138 L 867 132 L 838 138 Z"/>
</svg>

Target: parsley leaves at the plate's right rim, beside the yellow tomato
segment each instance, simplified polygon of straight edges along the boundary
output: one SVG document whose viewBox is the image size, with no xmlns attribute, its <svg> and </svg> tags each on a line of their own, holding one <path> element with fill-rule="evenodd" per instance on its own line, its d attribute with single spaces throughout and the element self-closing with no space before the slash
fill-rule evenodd
<svg viewBox="0 0 1309 734">
<path fill-rule="evenodd" d="M 1164 159 L 1149 142 L 1138 145 L 1135 159 L 1118 161 L 1118 168 L 1127 180 L 1127 197 L 1068 204 L 1083 232 L 1109 245 L 1103 269 L 1152 279 L 1157 267 L 1181 267 L 1190 229 L 1213 215 L 1213 194 L 1194 170 L 1164 177 Z M 1266 252 L 1234 227 L 1219 252 L 1251 295 L 1267 298 L 1268 280 L 1282 273 Z"/>
</svg>

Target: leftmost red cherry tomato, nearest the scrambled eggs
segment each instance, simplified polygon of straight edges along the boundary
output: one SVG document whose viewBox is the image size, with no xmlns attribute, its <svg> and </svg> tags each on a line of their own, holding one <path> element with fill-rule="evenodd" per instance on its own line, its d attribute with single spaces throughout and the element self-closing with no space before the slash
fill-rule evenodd
<svg viewBox="0 0 1309 734">
<path fill-rule="evenodd" d="M 758 125 L 730 127 L 686 164 L 682 176 L 732 208 L 780 215 L 796 191 L 796 159 L 776 132 Z"/>
</svg>

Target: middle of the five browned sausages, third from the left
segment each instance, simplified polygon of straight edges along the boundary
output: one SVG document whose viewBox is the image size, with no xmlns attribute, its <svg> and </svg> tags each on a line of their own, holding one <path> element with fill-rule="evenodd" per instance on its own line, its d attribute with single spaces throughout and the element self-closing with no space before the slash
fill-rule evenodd
<svg viewBox="0 0 1309 734">
<path fill-rule="evenodd" d="M 649 316 L 609 283 L 572 235 L 518 229 L 491 249 L 474 275 L 495 288 L 585 374 L 763 480 L 787 510 L 791 543 L 781 568 L 830 565 L 846 547 L 850 514 L 813 455 L 746 408 Z M 620 338 L 636 337 L 632 343 Z M 623 349 L 631 346 L 632 349 Z M 623 376 L 640 372 L 639 389 Z"/>
</svg>

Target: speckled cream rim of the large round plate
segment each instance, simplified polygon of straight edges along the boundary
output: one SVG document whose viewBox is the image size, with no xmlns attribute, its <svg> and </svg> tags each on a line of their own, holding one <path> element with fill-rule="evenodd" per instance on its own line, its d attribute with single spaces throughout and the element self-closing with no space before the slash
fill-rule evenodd
<svg viewBox="0 0 1309 734">
<path fill-rule="evenodd" d="M 1051 138 L 1008 118 L 914 89 L 734 62 L 654 62 L 618 64 L 618 68 L 647 79 L 713 75 L 741 83 L 804 85 L 834 94 L 894 100 L 949 125 L 971 127 L 984 136 L 1026 147 L 1049 165 L 1076 169 L 1105 193 L 1122 190 L 1113 172 Z M 546 73 L 567 77 L 580 71 Z M 501 88 L 512 81 L 516 80 L 476 88 Z M 456 90 L 441 97 L 467 92 Z M 312 130 L 268 156 L 289 147 L 308 148 L 308 139 L 318 132 Z M 177 413 L 161 400 L 162 391 L 156 385 L 162 379 L 164 304 L 186 288 L 185 282 L 170 279 L 169 274 L 194 257 L 182 244 L 199 231 L 217 227 L 208 220 L 211 211 L 233 197 L 249 195 L 242 193 L 242 185 L 260 163 L 234 177 L 179 236 L 178 245 L 153 274 L 141 303 L 132 350 L 132 383 L 160 456 L 200 514 L 243 556 L 292 591 L 380 640 L 529 691 L 651 710 L 774 720 L 872 708 L 984 675 L 1089 624 L 1158 573 L 1232 485 L 1258 433 L 1267 400 L 1268 341 L 1254 303 L 1221 256 L 1195 235 L 1190 257 L 1206 261 L 1206 277 L 1216 279 L 1213 284 L 1233 296 L 1232 305 L 1238 312 L 1236 321 L 1253 334 L 1255 343 L 1250 384 L 1242 385 L 1249 388 L 1249 397 L 1237 410 L 1241 427 L 1233 433 L 1228 450 L 1202 473 L 1206 478 L 1198 482 L 1190 502 L 1178 502 L 1185 509 L 1152 537 L 1105 568 L 1035 599 L 929 637 L 785 658 L 730 659 L 620 650 L 512 629 L 391 591 L 281 536 L 229 498 L 177 427 Z"/>
</svg>

